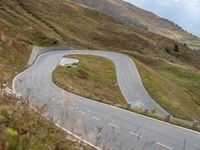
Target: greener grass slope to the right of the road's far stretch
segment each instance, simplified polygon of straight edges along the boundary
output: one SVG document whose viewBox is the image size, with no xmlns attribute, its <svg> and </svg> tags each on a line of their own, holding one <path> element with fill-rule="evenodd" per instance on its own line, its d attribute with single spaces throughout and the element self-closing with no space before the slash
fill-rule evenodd
<svg viewBox="0 0 200 150">
<path fill-rule="evenodd" d="M 165 110 L 177 118 L 200 120 L 198 70 L 157 58 L 135 58 L 145 88 Z"/>
</svg>

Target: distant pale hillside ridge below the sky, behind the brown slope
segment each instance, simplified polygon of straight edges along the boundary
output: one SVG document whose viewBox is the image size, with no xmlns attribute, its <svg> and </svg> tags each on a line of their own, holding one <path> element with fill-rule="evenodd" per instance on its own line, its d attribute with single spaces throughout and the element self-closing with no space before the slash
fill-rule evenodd
<svg viewBox="0 0 200 150">
<path fill-rule="evenodd" d="M 114 16 L 130 25 L 139 28 L 148 29 L 154 33 L 186 43 L 194 49 L 200 49 L 200 38 L 184 31 L 181 27 L 173 22 L 160 18 L 155 14 L 140 9 L 132 4 L 122 0 L 73 0 L 111 16 Z"/>
</svg>

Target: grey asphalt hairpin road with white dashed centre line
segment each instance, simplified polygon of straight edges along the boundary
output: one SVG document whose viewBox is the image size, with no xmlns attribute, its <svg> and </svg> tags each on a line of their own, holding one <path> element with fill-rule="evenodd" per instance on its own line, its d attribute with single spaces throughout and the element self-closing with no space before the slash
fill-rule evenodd
<svg viewBox="0 0 200 150">
<path fill-rule="evenodd" d="M 144 89 L 134 62 L 118 53 L 88 50 L 44 53 L 33 66 L 14 79 L 13 88 L 59 126 L 101 149 L 200 150 L 200 134 L 197 132 L 95 102 L 57 87 L 52 82 L 52 72 L 66 54 L 111 59 L 128 103 L 156 108 L 158 113 L 167 114 Z"/>
</svg>

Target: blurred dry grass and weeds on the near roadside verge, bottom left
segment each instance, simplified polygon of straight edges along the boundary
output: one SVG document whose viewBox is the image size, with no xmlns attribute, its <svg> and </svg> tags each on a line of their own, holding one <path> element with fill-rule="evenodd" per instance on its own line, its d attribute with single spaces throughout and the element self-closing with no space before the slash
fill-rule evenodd
<svg viewBox="0 0 200 150">
<path fill-rule="evenodd" d="M 19 99 L 0 96 L 0 106 L 1 150 L 93 150 Z"/>
</svg>

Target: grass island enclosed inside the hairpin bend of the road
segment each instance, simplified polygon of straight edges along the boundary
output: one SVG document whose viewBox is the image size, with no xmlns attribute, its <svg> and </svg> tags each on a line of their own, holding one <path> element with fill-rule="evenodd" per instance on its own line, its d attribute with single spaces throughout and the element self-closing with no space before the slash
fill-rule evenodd
<svg viewBox="0 0 200 150">
<path fill-rule="evenodd" d="M 58 67 L 53 73 L 53 80 L 67 91 L 107 104 L 126 107 L 115 74 L 114 64 L 97 56 L 68 56 L 80 60 L 75 68 Z"/>
</svg>

